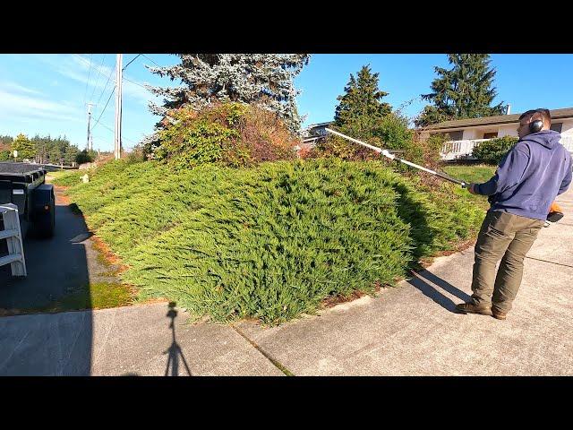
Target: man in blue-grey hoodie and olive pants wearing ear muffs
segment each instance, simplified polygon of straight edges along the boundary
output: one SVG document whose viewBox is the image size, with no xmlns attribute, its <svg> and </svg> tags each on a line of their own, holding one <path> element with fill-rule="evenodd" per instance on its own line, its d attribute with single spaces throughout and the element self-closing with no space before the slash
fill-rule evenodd
<svg viewBox="0 0 573 430">
<path fill-rule="evenodd" d="M 571 156 L 550 130 L 547 109 L 519 117 L 519 141 L 501 159 L 495 175 L 470 184 L 470 193 L 488 195 L 491 208 L 475 244 L 473 295 L 458 311 L 505 320 L 523 276 L 523 261 L 543 228 L 552 202 L 571 183 Z M 500 262 L 496 274 L 495 267 Z"/>
</svg>

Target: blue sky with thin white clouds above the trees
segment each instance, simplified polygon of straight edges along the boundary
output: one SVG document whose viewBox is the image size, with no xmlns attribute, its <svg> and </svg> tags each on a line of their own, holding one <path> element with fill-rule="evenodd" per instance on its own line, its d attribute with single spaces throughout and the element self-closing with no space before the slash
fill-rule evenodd
<svg viewBox="0 0 573 430">
<path fill-rule="evenodd" d="M 136 55 L 124 54 L 124 65 Z M 175 56 L 146 54 L 125 69 L 123 134 L 128 148 L 151 133 L 158 121 L 148 108 L 150 100 L 158 99 L 141 85 L 175 85 L 145 68 L 154 65 L 150 59 L 160 65 L 177 63 Z M 307 116 L 304 125 L 332 119 L 350 73 L 363 64 L 380 73 L 380 89 L 389 92 L 385 100 L 393 107 L 414 99 L 404 107 L 407 116 L 415 116 L 425 105 L 419 96 L 430 90 L 433 67 L 448 67 L 444 54 L 313 55 L 295 79 L 302 91 L 299 112 Z M 494 54 L 492 65 L 497 69 L 494 102 L 510 103 L 512 113 L 573 107 L 573 55 Z M 93 102 L 97 106 L 92 108 L 92 125 L 101 116 L 93 129 L 94 149 L 112 150 L 115 97 L 101 113 L 114 86 L 114 67 L 115 54 L 0 55 L 0 134 L 66 135 L 82 149 L 87 135 L 85 103 Z"/>
</svg>

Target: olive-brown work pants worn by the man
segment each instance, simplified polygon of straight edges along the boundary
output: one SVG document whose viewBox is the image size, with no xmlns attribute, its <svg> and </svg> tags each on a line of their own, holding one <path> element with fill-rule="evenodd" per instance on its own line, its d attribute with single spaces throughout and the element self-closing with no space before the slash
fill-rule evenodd
<svg viewBox="0 0 573 430">
<path fill-rule="evenodd" d="M 523 277 L 523 261 L 544 221 L 488 211 L 475 244 L 472 302 L 507 313 Z M 495 271 L 500 261 L 500 269 Z"/>
</svg>

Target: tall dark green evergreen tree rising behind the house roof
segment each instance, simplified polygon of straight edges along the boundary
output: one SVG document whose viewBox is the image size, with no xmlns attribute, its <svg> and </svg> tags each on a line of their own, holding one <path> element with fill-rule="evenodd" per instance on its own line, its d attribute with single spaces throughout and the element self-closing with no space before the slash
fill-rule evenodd
<svg viewBox="0 0 573 430">
<path fill-rule="evenodd" d="M 449 54 L 451 69 L 435 67 L 438 77 L 432 92 L 422 98 L 432 102 L 423 108 L 415 125 L 431 125 L 451 119 L 502 115 L 502 102 L 492 106 L 497 95 L 493 87 L 495 68 L 488 54 Z"/>
</svg>

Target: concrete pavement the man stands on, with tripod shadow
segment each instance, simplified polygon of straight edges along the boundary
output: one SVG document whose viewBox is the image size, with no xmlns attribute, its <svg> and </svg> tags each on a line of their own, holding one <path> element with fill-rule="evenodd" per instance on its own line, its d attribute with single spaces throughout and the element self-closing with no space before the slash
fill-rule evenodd
<svg viewBox="0 0 573 430">
<path fill-rule="evenodd" d="M 471 294 L 470 248 L 275 328 L 187 324 L 167 303 L 0 318 L 0 375 L 571 375 L 573 190 L 558 201 L 566 216 L 527 255 L 506 321 L 454 313 Z"/>
</svg>

